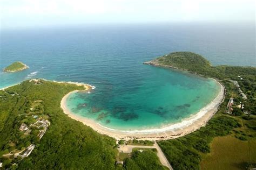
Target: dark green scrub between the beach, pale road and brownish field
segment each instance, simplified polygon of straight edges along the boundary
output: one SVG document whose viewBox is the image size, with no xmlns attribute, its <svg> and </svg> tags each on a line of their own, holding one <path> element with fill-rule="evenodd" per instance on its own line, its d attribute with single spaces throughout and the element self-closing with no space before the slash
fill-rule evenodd
<svg viewBox="0 0 256 170">
<path fill-rule="evenodd" d="M 231 117 L 212 118 L 206 127 L 185 137 L 159 141 L 159 146 L 175 169 L 199 169 L 200 153 L 210 152 L 210 143 L 215 136 L 230 134 L 240 124 Z"/>
</svg>

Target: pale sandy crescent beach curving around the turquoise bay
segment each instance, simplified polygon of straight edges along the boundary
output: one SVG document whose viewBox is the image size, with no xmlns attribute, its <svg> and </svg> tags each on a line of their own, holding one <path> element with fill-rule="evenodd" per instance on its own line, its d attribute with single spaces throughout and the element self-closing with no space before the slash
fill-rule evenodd
<svg viewBox="0 0 256 170">
<path fill-rule="evenodd" d="M 73 114 L 66 105 L 66 100 L 70 94 L 76 93 L 79 90 L 71 91 L 66 94 L 60 102 L 60 108 L 63 109 L 64 114 L 75 119 L 76 121 L 82 122 L 83 124 L 90 126 L 93 130 L 100 134 L 106 134 L 107 136 L 113 137 L 117 140 L 120 139 L 140 139 L 140 140 L 167 140 L 185 136 L 188 133 L 200 129 L 205 126 L 206 123 L 212 118 L 215 112 L 218 111 L 220 104 L 224 101 L 225 87 L 218 80 L 217 83 L 220 86 L 218 95 L 204 108 L 200 109 L 197 114 L 193 114 L 188 118 L 183 119 L 181 122 L 165 125 L 158 129 L 145 129 L 145 130 L 115 130 L 107 128 L 92 119 L 85 118 Z"/>
</svg>

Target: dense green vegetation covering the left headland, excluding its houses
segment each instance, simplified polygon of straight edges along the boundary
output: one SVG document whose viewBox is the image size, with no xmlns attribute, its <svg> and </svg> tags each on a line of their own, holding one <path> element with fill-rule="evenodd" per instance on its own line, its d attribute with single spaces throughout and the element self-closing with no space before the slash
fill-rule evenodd
<svg viewBox="0 0 256 170">
<path fill-rule="evenodd" d="M 4 167 L 18 163 L 20 169 L 114 169 L 115 140 L 69 118 L 60 108 L 65 94 L 83 87 L 40 81 L 41 85 L 24 81 L 0 90 L 0 161 Z M 49 117 L 51 122 L 41 140 L 36 131 L 32 130 L 29 135 L 19 131 L 22 122 L 33 123 L 31 107 L 37 108 L 33 114 Z M 36 147 L 23 160 L 2 157 L 30 144 L 36 144 Z"/>
</svg>

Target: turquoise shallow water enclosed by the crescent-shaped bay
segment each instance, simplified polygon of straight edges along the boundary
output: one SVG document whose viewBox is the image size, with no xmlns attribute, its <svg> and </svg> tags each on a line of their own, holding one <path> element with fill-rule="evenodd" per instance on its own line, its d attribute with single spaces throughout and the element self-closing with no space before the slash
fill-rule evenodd
<svg viewBox="0 0 256 170">
<path fill-rule="evenodd" d="M 70 111 L 118 130 L 160 128 L 195 114 L 215 98 L 220 86 L 210 79 L 165 68 L 141 66 L 141 72 L 117 88 L 72 93 Z M 125 79 L 125 76 L 123 77 Z"/>
</svg>

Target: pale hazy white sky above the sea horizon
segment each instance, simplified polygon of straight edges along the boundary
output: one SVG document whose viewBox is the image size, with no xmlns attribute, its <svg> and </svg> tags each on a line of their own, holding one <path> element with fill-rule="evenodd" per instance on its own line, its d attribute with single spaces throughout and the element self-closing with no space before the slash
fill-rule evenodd
<svg viewBox="0 0 256 170">
<path fill-rule="evenodd" d="M 254 22 L 254 0 L 0 0 L 1 29 L 155 22 Z"/>
</svg>

